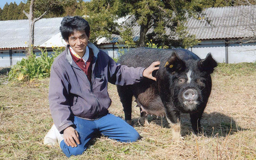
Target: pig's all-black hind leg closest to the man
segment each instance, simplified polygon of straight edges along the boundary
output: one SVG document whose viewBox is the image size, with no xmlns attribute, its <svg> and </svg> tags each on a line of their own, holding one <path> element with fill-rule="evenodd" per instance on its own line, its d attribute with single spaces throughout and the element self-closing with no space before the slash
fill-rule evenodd
<svg viewBox="0 0 256 160">
<path fill-rule="evenodd" d="M 132 124 L 132 90 L 129 86 L 117 86 L 117 91 L 124 108 L 124 119 Z"/>
</svg>

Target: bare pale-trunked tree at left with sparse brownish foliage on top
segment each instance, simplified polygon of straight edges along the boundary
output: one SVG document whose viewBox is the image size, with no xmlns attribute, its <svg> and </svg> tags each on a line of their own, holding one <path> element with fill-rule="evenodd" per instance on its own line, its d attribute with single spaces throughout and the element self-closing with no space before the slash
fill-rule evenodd
<svg viewBox="0 0 256 160">
<path fill-rule="evenodd" d="M 23 13 L 28 17 L 29 22 L 29 40 L 27 55 L 32 54 L 34 47 L 34 25 L 35 22 L 43 18 L 46 14 L 52 12 L 54 14 L 63 14 L 64 7 L 72 4 L 74 0 L 27 0 L 29 9 L 23 10 Z"/>
</svg>

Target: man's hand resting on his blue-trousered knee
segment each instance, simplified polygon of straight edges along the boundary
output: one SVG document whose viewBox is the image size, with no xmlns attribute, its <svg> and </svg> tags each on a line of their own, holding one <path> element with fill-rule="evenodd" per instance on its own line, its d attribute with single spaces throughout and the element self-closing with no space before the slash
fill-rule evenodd
<svg viewBox="0 0 256 160">
<path fill-rule="evenodd" d="M 78 139 L 79 138 L 78 132 L 72 126 L 69 126 L 64 130 L 63 138 L 64 138 L 64 142 L 68 146 L 76 147 L 77 146 L 76 143 L 80 144 Z"/>
</svg>

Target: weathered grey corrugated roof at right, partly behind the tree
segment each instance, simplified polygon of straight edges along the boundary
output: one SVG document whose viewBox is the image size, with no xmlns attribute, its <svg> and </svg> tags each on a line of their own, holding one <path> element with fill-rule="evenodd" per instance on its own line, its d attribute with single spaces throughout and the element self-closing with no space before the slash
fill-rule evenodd
<svg viewBox="0 0 256 160">
<path fill-rule="evenodd" d="M 188 27 L 188 34 L 196 35 L 196 39 L 232 39 L 232 38 L 249 38 L 256 37 L 256 6 L 232 6 L 232 7 L 218 7 L 218 8 L 206 8 L 203 12 L 205 18 L 208 18 L 211 22 L 208 24 L 205 18 L 200 20 L 195 18 L 189 18 L 186 26 Z M 128 18 L 124 21 L 123 25 L 127 23 Z M 152 32 L 152 29 L 148 31 Z M 170 32 L 170 30 L 167 30 Z M 140 36 L 140 27 L 136 24 L 133 27 L 133 37 Z M 172 35 L 172 34 L 171 34 Z M 115 38 L 120 36 L 112 35 Z M 106 39 L 101 44 L 112 43 Z"/>
</svg>

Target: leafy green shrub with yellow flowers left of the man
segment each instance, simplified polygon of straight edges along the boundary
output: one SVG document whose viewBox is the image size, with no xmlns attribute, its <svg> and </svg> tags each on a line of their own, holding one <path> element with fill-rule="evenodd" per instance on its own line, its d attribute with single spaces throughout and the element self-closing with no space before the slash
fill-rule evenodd
<svg viewBox="0 0 256 160">
<path fill-rule="evenodd" d="M 46 49 L 37 48 L 41 51 L 40 57 L 32 54 L 28 58 L 22 58 L 20 62 L 14 65 L 9 74 L 8 80 L 28 81 L 33 78 L 45 78 L 50 76 L 50 69 L 54 58 L 58 56 L 64 48 L 53 48 L 53 52 L 48 56 Z"/>
</svg>

